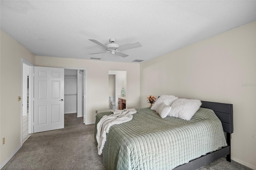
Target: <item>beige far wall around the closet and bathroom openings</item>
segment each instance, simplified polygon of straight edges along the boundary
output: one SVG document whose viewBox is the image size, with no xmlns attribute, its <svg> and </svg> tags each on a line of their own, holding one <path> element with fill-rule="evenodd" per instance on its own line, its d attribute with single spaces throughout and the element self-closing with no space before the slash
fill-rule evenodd
<svg viewBox="0 0 256 170">
<path fill-rule="evenodd" d="M 140 106 L 140 65 L 85 59 L 36 56 L 36 65 L 43 67 L 88 68 L 87 123 L 95 123 L 95 111 L 108 109 L 108 70 L 127 71 L 127 105 Z"/>
</svg>

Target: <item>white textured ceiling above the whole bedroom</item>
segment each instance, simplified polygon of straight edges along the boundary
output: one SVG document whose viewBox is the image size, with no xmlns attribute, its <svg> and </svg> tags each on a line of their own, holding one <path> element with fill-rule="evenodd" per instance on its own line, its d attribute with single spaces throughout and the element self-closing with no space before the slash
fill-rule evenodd
<svg viewBox="0 0 256 170">
<path fill-rule="evenodd" d="M 1 0 L 0 26 L 35 55 L 149 60 L 256 20 L 256 1 Z M 120 57 L 90 42 L 140 42 Z"/>
</svg>

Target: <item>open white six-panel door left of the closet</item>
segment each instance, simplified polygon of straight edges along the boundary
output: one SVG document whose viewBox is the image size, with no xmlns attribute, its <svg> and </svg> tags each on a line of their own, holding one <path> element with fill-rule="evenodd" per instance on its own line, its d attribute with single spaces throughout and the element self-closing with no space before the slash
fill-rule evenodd
<svg viewBox="0 0 256 170">
<path fill-rule="evenodd" d="M 64 69 L 34 67 L 34 132 L 64 128 Z"/>
</svg>

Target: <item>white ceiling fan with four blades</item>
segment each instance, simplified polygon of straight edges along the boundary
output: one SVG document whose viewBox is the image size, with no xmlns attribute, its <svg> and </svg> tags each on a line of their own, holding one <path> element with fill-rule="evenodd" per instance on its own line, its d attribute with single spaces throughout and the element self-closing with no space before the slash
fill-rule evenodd
<svg viewBox="0 0 256 170">
<path fill-rule="evenodd" d="M 102 47 L 104 47 L 106 50 L 106 52 L 101 52 L 101 53 L 112 53 L 112 54 L 116 54 L 116 55 L 119 55 L 121 57 L 127 57 L 129 55 L 127 54 L 124 54 L 124 53 L 121 53 L 120 51 L 122 50 L 126 50 L 126 49 L 132 49 L 132 48 L 137 48 L 137 47 L 142 47 L 142 45 L 139 43 L 139 42 L 136 42 L 136 43 L 132 43 L 130 45 L 126 45 L 126 46 L 123 46 L 123 47 L 120 47 L 118 44 L 114 43 L 116 41 L 115 38 L 110 38 L 109 41 L 111 43 L 108 43 L 106 45 L 104 45 L 103 43 L 101 42 L 98 42 L 97 40 L 92 40 L 92 39 L 89 39 L 91 42 L 94 42 Z M 91 53 L 91 54 L 100 54 L 100 53 Z"/>
</svg>

